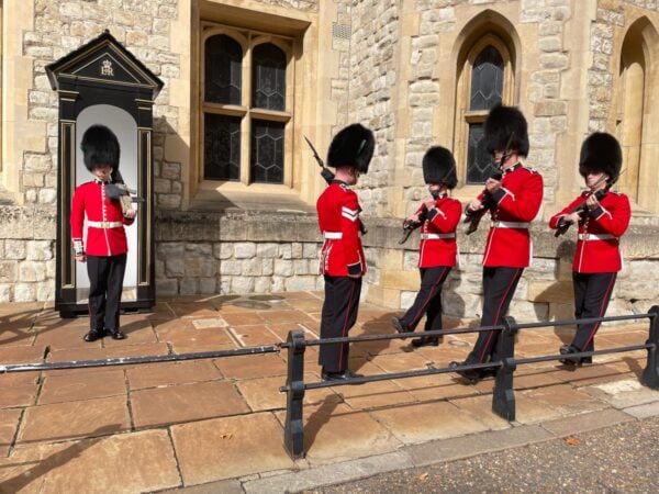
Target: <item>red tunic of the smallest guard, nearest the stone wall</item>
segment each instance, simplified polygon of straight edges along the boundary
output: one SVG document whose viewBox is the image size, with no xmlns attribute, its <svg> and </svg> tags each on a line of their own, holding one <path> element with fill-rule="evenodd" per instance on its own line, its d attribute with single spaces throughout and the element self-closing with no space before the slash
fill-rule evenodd
<svg viewBox="0 0 659 494">
<path fill-rule="evenodd" d="M 424 207 L 424 205 L 418 207 L 416 213 L 423 211 Z M 435 206 L 428 211 L 426 221 L 421 227 L 420 268 L 456 266 L 458 257 L 456 228 L 461 215 L 462 205 L 460 201 L 446 195 L 435 201 Z"/>
</svg>

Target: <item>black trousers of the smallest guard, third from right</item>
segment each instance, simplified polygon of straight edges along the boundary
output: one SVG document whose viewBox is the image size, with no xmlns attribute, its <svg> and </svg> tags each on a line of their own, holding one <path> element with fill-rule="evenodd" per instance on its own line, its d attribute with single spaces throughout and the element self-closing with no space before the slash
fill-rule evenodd
<svg viewBox="0 0 659 494">
<path fill-rule="evenodd" d="M 442 329 L 442 285 L 450 272 L 448 266 L 436 266 L 434 268 L 421 268 L 421 289 L 414 299 L 412 306 L 401 318 L 403 326 L 414 330 L 424 314 L 426 323 L 424 330 Z"/>
</svg>

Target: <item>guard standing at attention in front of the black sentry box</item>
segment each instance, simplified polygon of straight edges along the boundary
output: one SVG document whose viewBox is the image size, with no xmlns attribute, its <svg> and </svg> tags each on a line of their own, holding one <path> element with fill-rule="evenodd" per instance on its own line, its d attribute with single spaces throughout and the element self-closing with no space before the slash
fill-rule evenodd
<svg viewBox="0 0 659 494">
<path fill-rule="evenodd" d="M 123 339 L 119 311 L 129 250 L 124 225 L 134 222 L 135 211 L 122 211 L 112 180 L 116 177 L 120 157 L 114 133 L 103 125 L 93 125 L 85 132 L 80 147 L 85 166 L 94 177 L 76 189 L 70 215 L 75 257 L 77 261 L 87 262 L 90 282 L 90 329 L 83 339 L 96 341 L 105 334 Z"/>
</svg>

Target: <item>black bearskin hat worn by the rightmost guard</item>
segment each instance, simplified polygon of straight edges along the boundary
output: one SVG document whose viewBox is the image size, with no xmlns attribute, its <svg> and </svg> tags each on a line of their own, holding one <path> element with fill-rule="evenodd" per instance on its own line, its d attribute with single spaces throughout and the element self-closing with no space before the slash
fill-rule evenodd
<svg viewBox="0 0 659 494">
<path fill-rule="evenodd" d="M 615 183 L 623 166 L 623 150 L 617 139 L 605 132 L 589 135 L 581 145 L 579 173 L 583 178 L 589 171 L 602 171 Z"/>
</svg>

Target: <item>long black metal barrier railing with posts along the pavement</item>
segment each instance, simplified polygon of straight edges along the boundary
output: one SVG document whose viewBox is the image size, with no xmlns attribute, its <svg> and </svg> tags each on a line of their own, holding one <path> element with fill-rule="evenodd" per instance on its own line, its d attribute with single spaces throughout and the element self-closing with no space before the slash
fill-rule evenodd
<svg viewBox="0 0 659 494">
<path fill-rule="evenodd" d="M 258 347 L 238 348 L 233 350 L 199 351 L 180 355 L 161 355 L 148 357 L 121 357 L 102 360 L 77 360 L 67 362 L 43 362 L 43 363 L 14 363 L 0 364 L 0 374 L 12 372 L 30 372 L 58 369 L 76 369 L 91 367 L 112 367 L 139 363 L 172 362 L 181 360 L 198 360 L 209 358 L 239 357 L 257 353 L 279 353 L 281 348 L 288 349 L 288 372 L 286 385 L 280 388 L 281 392 L 287 392 L 287 409 L 284 423 L 284 447 L 292 458 L 304 456 L 304 419 L 303 419 L 303 400 L 306 390 L 320 388 L 354 385 L 366 382 L 387 381 L 391 379 L 415 378 L 420 375 L 442 374 L 463 370 L 494 369 L 495 384 L 492 394 L 492 411 L 507 420 L 515 419 L 515 395 L 513 390 L 513 372 L 518 364 L 535 363 L 566 358 L 563 355 L 549 355 L 541 357 L 514 358 L 515 334 L 520 329 L 556 327 L 574 325 L 578 323 L 595 323 L 611 321 L 630 321 L 638 318 L 649 318 L 649 337 L 645 345 L 634 345 L 627 347 L 611 348 L 597 351 L 582 351 L 580 353 L 570 353 L 570 358 L 580 358 L 606 353 L 617 353 L 623 351 L 634 351 L 646 349 L 648 351 L 647 364 L 641 375 L 641 383 L 648 388 L 659 389 L 659 306 L 655 305 L 647 314 L 635 314 L 630 316 L 594 317 L 573 321 L 556 321 L 554 323 L 527 323 L 517 324 L 513 317 L 506 317 L 503 325 L 483 326 L 479 328 L 456 328 L 447 330 L 424 332 L 423 336 L 445 336 L 459 335 L 465 333 L 482 333 L 490 330 L 501 332 L 496 341 L 496 352 L 501 360 L 487 363 L 474 363 L 469 366 L 458 366 L 448 368 L 434 368 L 423 370 L 412 370 L 407 372 L 394 372 L 384 374 L 365 375 L 360 378 L 348 379 L 345 381 L 320 381 L 304 382 L 304 350 L 306 347 L 328 345 L 336 343 L 359 343 L 387 339 L 405 339 L 417 337 L 415 333 L 388 334 L 388 335 L 368 335 L 344 338 L 326 339 L 304 339 L 304 333 L 300 330 L 289 332 L 286 343 L 277 345 L 267 345 Z"/>
</svg>

